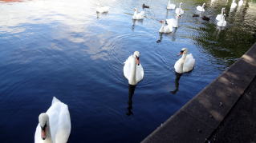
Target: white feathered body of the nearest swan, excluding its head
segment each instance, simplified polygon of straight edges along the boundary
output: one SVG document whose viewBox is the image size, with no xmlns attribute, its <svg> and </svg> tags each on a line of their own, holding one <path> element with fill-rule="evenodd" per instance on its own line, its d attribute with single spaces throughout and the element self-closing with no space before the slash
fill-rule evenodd
<svg viewBox="0 0 256 143">
<path fill-rule="evenodd" d="M 51 138 L 56 143 L 59 141 L 67 142 L 71 132 L 71 120 L 67 105 L 55 97 L 52 102 L 53 104 L 47 110 L 50 120 Z"/>
</svg>

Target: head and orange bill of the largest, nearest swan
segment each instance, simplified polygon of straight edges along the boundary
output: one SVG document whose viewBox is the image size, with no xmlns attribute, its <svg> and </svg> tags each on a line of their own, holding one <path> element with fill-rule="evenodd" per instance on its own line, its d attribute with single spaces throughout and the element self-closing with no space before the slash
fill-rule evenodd
<svg viewBox="0 0 256 143">
<path fill-rule="evenodd" d="M 41 138 L 45 140 L 47 138 L 47 128 L 49 128 L 49 117 L 47 113 L 41 113 L 39 115 L 39 125 L 41 127 Z"/>
</svg>

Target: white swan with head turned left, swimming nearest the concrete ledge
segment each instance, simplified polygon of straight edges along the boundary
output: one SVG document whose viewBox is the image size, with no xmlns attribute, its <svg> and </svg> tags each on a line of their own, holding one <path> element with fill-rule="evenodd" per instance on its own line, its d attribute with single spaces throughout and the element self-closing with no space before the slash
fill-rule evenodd
<svg viewBox="0 0 256 143">
<path fill-rule="evenodd" d="M 174 69 L 177 73 L 185 73 L 193 70 L 195 59 L 192 54 L 188 54 L 187 48 L 181 49 L 182 57 L 175 63 Z"/>
</svg>

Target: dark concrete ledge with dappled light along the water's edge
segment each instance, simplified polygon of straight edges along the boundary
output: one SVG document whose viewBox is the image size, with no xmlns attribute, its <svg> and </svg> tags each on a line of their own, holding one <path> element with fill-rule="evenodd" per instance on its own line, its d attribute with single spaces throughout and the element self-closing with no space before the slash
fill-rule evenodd
<svg viewBox="0 0 256 143">
<path fill-rule="evenodd" d="M 142 142 L 205 142 L 255 76 L 256 43 Z"/>
</svg>

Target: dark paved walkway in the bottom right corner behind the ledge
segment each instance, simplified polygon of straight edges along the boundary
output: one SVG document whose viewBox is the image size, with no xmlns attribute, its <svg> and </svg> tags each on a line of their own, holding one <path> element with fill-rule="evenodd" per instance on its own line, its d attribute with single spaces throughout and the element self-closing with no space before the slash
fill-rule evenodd
<svg viewBox="0 0 256 143">
<path fill-rule="evenodd" d="M 256 143 L 256 77 L 209 141 Z"/>
</svg>

